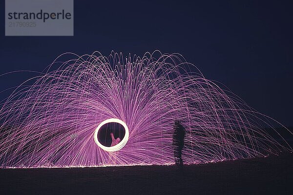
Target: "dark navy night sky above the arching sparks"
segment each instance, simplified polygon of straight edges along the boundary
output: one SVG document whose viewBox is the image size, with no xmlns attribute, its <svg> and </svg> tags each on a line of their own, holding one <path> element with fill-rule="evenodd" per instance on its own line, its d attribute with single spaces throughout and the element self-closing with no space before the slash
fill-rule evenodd
<svg viewBox="0 0 293 195">
<path fill-rule="evenodd" d="M 289 2 L 289 1 L 288 1 Z M 64 52 L 180 53 L 259 112 L 293 126 L 293 6 L 275 2 L 75 0 L 74 37 L 5 37 L 0 74 L 42 71 Z M 32 75 L 0 77 L 0 91 Z M 6 93 L 0 94 L 0 99 Z"/>
</svg>

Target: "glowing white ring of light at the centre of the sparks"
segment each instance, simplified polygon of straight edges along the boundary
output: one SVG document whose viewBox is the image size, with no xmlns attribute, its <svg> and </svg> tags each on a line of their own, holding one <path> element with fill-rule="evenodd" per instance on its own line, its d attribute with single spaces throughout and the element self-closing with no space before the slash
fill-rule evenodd
<svg viewBox="0 0 293 195">
<path fill-rule="evenodd" d="M 107 146 L 104 146 L 103 144 L 100 143 L 100 141 L 98 139 L 98 132 L 103 125 L 105 125 L 107 123 L 113 123 L 113 122 L 119 123 L 124 127 L 125 136 L 118 144 L 111 146 L 111 147 L 107 147 Z M 118 118 L 109 118 L 109 119 L 104 120 L 103 122 L 101 122 L 99 124 L 99 126 L 97 127 L 97 129 L 95 130 L 95 133 L 94 133 L 94 140 L 95 140 L 96 144 L 100 148 L 102 148 L 103 150 L 108 151 L 108 152 L 115 152 L 115 151 L 121 150 L 126 145 L 126 143 L 128 141 L 128 137 L 129 137 L 129 131 L 128 131 L 128 127 L 127 127 L 126 123 Z"/>
</svg>

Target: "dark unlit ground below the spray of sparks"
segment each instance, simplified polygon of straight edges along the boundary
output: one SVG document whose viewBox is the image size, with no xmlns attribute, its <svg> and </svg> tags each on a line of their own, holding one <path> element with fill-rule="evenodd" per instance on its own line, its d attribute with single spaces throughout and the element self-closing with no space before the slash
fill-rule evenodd
<svg viewBox="0 0 293 195">
<path fill-rule="evenodd" d="M 293 155 L 175 166 L 0 169 L 0 195 L 293 194 Z"/>
</svg>

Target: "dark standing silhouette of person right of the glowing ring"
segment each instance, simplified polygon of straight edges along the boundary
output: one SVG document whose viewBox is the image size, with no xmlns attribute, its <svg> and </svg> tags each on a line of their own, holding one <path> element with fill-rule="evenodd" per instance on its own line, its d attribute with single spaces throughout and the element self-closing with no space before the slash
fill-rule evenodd
<svg viewBox="0 0 293 195">
<path fill-rule="evenodd" d="M 182 149 L 184 146 L 185 128 L 181 125 L 180 121 L 175 121 L 173 145 L 174 145 L 174 157 L 177 166 L 183 166 Z"/>
</svg>

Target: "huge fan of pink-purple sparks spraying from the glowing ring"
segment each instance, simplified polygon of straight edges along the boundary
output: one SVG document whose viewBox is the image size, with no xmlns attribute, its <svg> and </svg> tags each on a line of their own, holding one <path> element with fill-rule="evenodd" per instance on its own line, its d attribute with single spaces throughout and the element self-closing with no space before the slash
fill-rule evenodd
<svg viewBox="0 0 293 195">
<path fill-rule="evenodd" d="M 179 54 L 71 55 L 2 104 L 0 167 L 172 164 L 178 120 L 187 131 L 185 163 L 292 152 L 280 132 L 263 128 L 276 121 L 189 71 L 197 69 Z M 107 119 L 127 128 L 116 148 L 96 138 Z"/>
</svg>

